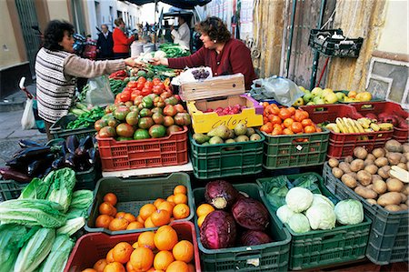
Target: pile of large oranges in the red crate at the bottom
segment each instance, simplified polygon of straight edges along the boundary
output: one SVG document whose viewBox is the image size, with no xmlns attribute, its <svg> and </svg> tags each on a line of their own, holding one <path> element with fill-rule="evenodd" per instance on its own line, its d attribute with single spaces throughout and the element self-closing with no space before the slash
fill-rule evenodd
<svg viewBox="0 0 409 272">
<path fill-rule="evenodd" d="M 105 258 L 83 272 L 194 272 L 195 249 L 187 240 L 178 240 L 173 227 L 159 227 L 156 233 L 146 231 L 131 246 L 116 244 Z"/>
</svg>

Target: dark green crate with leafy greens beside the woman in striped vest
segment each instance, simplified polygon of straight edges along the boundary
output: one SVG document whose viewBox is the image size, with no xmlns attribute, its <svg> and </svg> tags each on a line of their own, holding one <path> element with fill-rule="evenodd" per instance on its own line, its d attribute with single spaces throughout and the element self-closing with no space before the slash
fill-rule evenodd
<svg viewBox="0 0 409 272">
<path fill-rule="evenodd" d="M 77 118 L 77 116 L 74 115 L 68 115 L 68 116 L 62 116 L 59 118 L 53 126 L 50 127 L 50 133 L 51 135 L 57 139 L 57 138 L 66 138 L 67 136 L 70 135 L 75 135 L 78 137 L 78 139 L 85 138 L 86 136 L 93 136 L 95 135 L 95 128 L 94 126 L 91 127 L 85 127 L 85 128 L 76 128 L 76 129 L 66 129 L 66 126 L 68 123 L 71 121 L 74 121 Z"/>
</svg>

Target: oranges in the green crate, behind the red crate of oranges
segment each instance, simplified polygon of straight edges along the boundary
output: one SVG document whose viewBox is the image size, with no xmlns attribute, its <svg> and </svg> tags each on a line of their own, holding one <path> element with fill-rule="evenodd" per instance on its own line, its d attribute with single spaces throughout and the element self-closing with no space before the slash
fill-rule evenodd
<svg viewBox="0 0 409 272">
<path fill-rule="evenodd" d="M 130 213 L 117 212 L 115 207 L 117 198 L 115 194 L 108 193 L 99 206 L 100 215 L 96 217 L 95 227 L 117 231 L 165 226 L 175 219 L 189 217 L 187 199 L 187 188 L 183 185 L 175 186 L 174 195 L 166 199 L 157 198 L 154 203 L 145 204 L 139 209 L 139 215 L 135 217 Z"/>
</svg>

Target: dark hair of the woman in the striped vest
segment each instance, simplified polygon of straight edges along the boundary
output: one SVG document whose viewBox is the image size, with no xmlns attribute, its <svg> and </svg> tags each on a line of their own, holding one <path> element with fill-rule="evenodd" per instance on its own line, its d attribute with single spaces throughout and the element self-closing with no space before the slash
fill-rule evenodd
<svg viewBox="0 0 409 272">
<path fill-rule="evenodd" d="M 53 51 L 63 50 L 63 46 L 58 45 L 58 43 L 63 40 L 65 31 L 73 35 L 74 25 L 60 20 L 50 21 L 45 28 L 43 46 Z"/>
</svg>

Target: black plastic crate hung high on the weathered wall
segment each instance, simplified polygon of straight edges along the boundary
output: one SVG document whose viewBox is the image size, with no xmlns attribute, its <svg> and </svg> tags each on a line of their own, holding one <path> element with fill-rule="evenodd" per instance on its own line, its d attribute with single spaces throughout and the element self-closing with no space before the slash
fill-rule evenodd
<svg viewBox="0 0 409 272">
<path fill-rule="evenodd" d="M 364 38 L 334 38 L 344 35 L 341 29 L 311 29 L 308 45 L 324 55 L 339 57 L 358 57 Z"/>
</svg>

